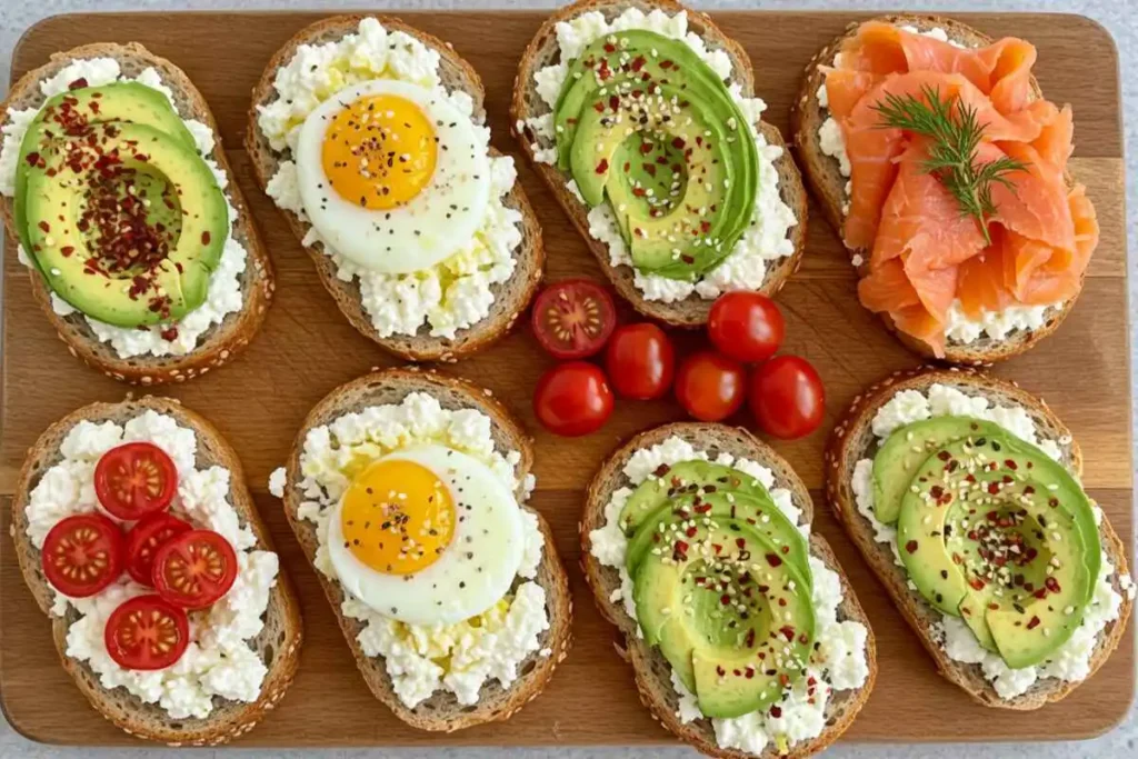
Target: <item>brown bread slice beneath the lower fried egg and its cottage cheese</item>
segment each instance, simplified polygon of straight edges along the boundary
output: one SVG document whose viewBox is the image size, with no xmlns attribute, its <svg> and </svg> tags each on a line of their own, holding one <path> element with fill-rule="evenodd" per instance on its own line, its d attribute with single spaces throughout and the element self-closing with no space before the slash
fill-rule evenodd
<svg viewBox="0 0 1138 759">
<path fill-rule="evenodd" d="M 418 371 L 414 368 L 388 369 L 365 374 L 336 388 L 313 407 L 297 434 L 296 443 L 289 454 L 286 465 L 284 513 L 308 561 L 314 561 L 320 545 L 315 525 L 297 515 L 297 510 L 305 500 L 298 485 L 302 480 L 300 453 L 308 430 L 368 406 L 401 403 L 412 393 L 427 393 L 444 409 L 476 409 L 489 416 L 495 449 L 517 451 L 521 454 L 516 469 L 519 482 L 529 473 L 534 462 L 533 440 L 488 390 L 465 380 L 430 371 Z M 519 503 L 525 503 L 525 492 L 521 487 L 518 490 L 518 498 Z M 545 609 L 550 627 L 539 636 L 538 651 L 519 665 L 518 679 L 509 688 L 503 688 L 497 680 L 487 680 L 479 692 L 478 703 L 473 707 L 460 704 L 453 693 L 438 691 L 415 708 L 409 709 L 395 693 L 384 658 L 366 655 L 356 641 L 365 622 L 349 619 L 340 612 L 340 605 L 346 597 L 344 588 L 335 579 L 316 572 L 368 687 L 377 699 L 409 725 L 426 731 L 450 733 L 472 725 L 509 719 L 526 703 L 537 698 L 553 676 L 554 668 L 568 654 L 572 619 L 569 579 L 558 556 L 550 526 L 537 511 L 525 505 L 522 508 L 537 517 L 542 534 L 545 536 L 545 548 L 542 552 L 542 563 L 535 581 L 545 588 Z M 541 655 L 543 650 L 547 650 L 549 655 Z"/>
</svg>

